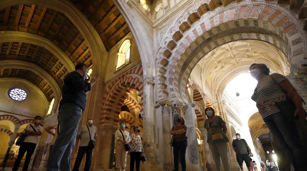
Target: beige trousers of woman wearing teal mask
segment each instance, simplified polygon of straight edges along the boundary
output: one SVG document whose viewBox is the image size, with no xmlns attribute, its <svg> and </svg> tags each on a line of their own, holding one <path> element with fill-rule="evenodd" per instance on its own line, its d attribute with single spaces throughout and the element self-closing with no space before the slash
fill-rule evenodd
<svg viewBox="0 0 307 171">
<path fill-rule="evenodd" d="M 127 151 L 124 143 L 115 143 L 115 159 L 115 168 L 121 168 L 121 171 L 125 171 Z"/>
</svg>

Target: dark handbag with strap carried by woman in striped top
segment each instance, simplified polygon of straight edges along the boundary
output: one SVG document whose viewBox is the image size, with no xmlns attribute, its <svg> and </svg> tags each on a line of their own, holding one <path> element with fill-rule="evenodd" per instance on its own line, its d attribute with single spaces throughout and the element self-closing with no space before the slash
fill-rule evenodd
<svg viewBox="0 0 307 171">
<path fill-rule="evenodd" d="M 276 84 L 278 84 L 275 81 L 275 79 L 273 78 L 273 76 L 272 75 L 270 75 L 270 76 L 271 76 L 272 80 L 274 80 L 274 82 Z M 302 100 L 303 104 L 306 105 L 305 101 L 302 98 L 301 98 L 301 100 Z M 284 117 L 286 117 L 288 120 L 290 120 L 290 121 L 298 120 L 298 116 L 296 116 L 296 117 L 294 116 L 294 112 L 296 110 L 296 106 L 295 106 L 295 104 L 293 103 L 292 100 L 285 100 L 285 101 L 275 102 L 275 105 L 279 109 L 280 113 L 282 113 L 282 115 L 284 115 Z M 304 110 L 304 113 L 305 113 L 305 117 L 307 117 L 307 112 L 305 110 Z"/>
</svg>

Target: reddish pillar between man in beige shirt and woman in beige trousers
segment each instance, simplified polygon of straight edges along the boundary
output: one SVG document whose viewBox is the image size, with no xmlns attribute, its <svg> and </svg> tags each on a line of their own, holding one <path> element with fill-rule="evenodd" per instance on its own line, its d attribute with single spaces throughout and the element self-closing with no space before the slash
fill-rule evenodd
<svg viewBox="0 0 307 171">
<path fill-rule="evenodd" d="M 96 140 L 96 147 L 94 149 L 95 154 L 93 155 L 94 170 L 104 170 L 104 153 L 106 146 L 106 135 L 107 131 L 110 129 L 108 125 L 101 125 L 98 128 L 98 137 Z"/>
</svg>

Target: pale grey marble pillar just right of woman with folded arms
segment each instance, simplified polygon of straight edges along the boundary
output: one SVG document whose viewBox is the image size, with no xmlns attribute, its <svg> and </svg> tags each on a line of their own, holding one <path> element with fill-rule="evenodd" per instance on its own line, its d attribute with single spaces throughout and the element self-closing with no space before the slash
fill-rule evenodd
<svg viewBox="0 0 307 171">
<path fill-rule="evenodd" d="M 188 155 L 186 156 L 187 170 L 202 170 L 199 159 L 196 127 L 195 127 L 195 111 L 194 103 L 185 104 L 182 112 L 185 118 L 185 125 L 188 127 Z"/>
</svg>

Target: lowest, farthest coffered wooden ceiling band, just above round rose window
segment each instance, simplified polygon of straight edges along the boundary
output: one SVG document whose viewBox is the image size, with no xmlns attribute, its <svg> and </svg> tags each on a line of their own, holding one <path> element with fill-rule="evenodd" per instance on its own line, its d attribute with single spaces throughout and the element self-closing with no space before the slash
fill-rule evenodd
<svg viewBox="0 0 307 171">
<path fill-rule="evenodd" d="M 51 101 L 52 98 L 54 98 L 54 93 L 49 83 L 33 71 L 15 68 L 0 69 L 0 78 L 26 78 L 26 80 L 41 89 L 48 101 Z"/>
</svg>

